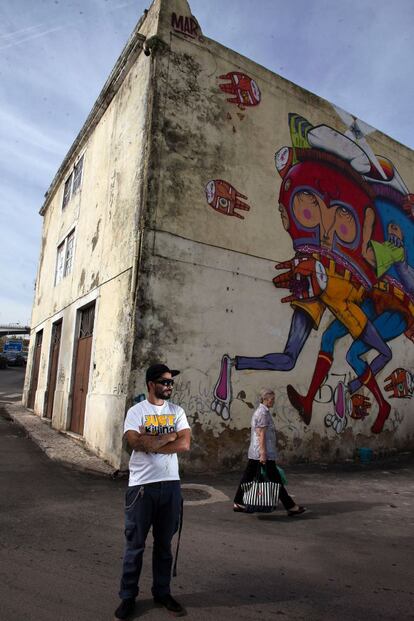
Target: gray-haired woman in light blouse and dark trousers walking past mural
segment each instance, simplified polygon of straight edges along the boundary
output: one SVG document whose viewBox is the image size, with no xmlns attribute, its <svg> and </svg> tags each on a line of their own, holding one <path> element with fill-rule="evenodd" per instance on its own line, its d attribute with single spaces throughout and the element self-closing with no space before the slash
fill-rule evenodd
<svg viewBox="0 0 414 621">
<path fill-rule="evenodd" d="M 242 483 L 253 481 L 262 465 L 265 466 L 268 479 L 279 483 L 280 502 L 285 507 L 288 515 L 294 517 L 304 513 L 306 509 L 297 505 L 289 496 L 276 466 L 276 429 L 270 413 L 274 403 L 275 393 L 273 390 L 270 388 L 261 390 L 260 405 L 252 416 L 249 460 L 234 497 L 233 510 L 244 513 L 248 511 L 243 504 Z"/>
</svg>

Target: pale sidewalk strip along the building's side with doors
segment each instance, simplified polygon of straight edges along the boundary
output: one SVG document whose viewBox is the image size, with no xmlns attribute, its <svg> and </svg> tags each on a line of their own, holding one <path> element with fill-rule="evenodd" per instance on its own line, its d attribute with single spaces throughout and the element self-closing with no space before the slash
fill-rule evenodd
<svg viewBox="0 0 414 621">
<path fill-rule="evenodd" d="M 50 427 L 48 423 L 21 404 L 2 403 L 1 408 L 16 425 L 24 429 L 28 437 L 52 461 L 89 474 L 117 477 L 118 470 L 94 455 L 76 440 Z"/>
</svg>

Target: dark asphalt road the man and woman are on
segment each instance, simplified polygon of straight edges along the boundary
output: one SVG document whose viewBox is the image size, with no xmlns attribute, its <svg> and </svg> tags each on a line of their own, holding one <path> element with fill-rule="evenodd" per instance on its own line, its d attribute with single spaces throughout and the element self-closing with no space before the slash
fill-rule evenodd
<svg viewBox="0 0 414 621">
<path fill-rule="evenodd" d="M 1 416 L 0 472 L 0 619 L 111 620 L 126 481 L 50 461 Z M 311 509 L 301 518 L 235 514 L 230 500 L 186 506 L 173 594 L 197 621 L 414 619 L 413 473 L 409 456 L 288 469 L 290 492 Z M 232 497 L 237 478 L 186 482 Z M 150 571 L 149 538 L 134 618 L 167 620 Z"/>
</svg>

